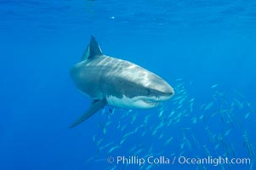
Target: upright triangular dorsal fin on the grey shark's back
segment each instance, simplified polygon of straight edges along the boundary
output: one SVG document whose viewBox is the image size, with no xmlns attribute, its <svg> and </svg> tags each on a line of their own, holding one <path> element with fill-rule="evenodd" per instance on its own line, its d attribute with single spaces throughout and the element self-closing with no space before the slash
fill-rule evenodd
<svg viewBox="0 0 256 170">
<path fill-rule="evenodd" d="M 95 38 L 92 36 L 86 51 L 82 54 L 82 60 L 93 59 L 96 55 L 102 55 L 102 51 L 98 42 L 96 42 Z"/>
</svg>

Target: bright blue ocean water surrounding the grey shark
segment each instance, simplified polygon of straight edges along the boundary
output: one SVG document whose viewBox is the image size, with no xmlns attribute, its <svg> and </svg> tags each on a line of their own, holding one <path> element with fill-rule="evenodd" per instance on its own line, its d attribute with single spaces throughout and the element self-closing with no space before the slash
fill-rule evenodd
<svg viewBox="0 0 256 170">
<path fill-rule="evenodd" d="M 256 169 L 255 11 L 253 0 L 1 0 L 0 169 Z M 91 102 L 69 75 L 91 35 L 104 54 L 167 80 L 174 98 L 148 111 L 105 107 L 68 128 Z"/>
</svg>

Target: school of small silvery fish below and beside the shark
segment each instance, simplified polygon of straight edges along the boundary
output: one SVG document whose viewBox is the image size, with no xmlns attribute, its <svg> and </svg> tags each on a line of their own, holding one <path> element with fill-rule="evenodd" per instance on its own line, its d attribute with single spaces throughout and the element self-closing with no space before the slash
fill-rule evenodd
<svg viewBox="0 0 256 170">
<path fill-rule="evenodd" d="M 105 108 L 92 136 L 96 150 L 86 162 L 103 161 L 105 156 L 255 156 L 247 122 L 255 120 L 252 104 L 238 92 L 226 93 L 218 84 L 209 87 L 210 98 L 196 99 L 190 83 L 174 80 L 173 99 L 153 111 Z M 250 135 L 249 135 L 250 134 Z M 239 153 L 238 153 L 239 151 Z M 122 169 L 130 169 L 130 165 Z M 161 165 L 144 165 L 151 169 Z M 229 164 L 219 169 L 232 169 Z M 105 162 L 105 169 L 119 169 Z M 193 169 L 211 169 L 196 165 Z"/>
</svg>

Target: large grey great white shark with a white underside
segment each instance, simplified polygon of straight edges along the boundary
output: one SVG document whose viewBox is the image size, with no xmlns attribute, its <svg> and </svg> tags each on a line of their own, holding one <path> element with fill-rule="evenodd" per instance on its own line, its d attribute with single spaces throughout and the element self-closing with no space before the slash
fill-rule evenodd
<svg viewBox="0 0 256 170">
<path fill-rule="evenodd" d="M 105 105 L 150 109 L 174 95 L 174 88 L 151 71 L 103 54 L 94 37 L 82 54 L 82 61 L 71 68 L 71 78 L 93 102 L 70 127 L 84 122 Z"/>
</svg>

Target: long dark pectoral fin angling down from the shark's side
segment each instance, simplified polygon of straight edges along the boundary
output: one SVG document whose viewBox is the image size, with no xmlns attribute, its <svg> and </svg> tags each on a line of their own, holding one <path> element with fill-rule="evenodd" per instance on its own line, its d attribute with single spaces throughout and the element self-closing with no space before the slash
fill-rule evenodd
<svg viewBox="0 0 256 170">
<path fill-rule="evenodd" d="M 76 122 L 73 122 L 71 124 L 70 128 L 76 127 L 78 124 L 84 122 L 86 119 L 88 119 L 90 116 L 93 116 L 94 113 L 99 111 L 104 106 L 105 106 L 105 100 L 104 99 L 94 100 L 92 105 L 88 108 L 88 111 L 85 111 L 85 113 L 79 119 L 77 119 Z"/>
</svg>

